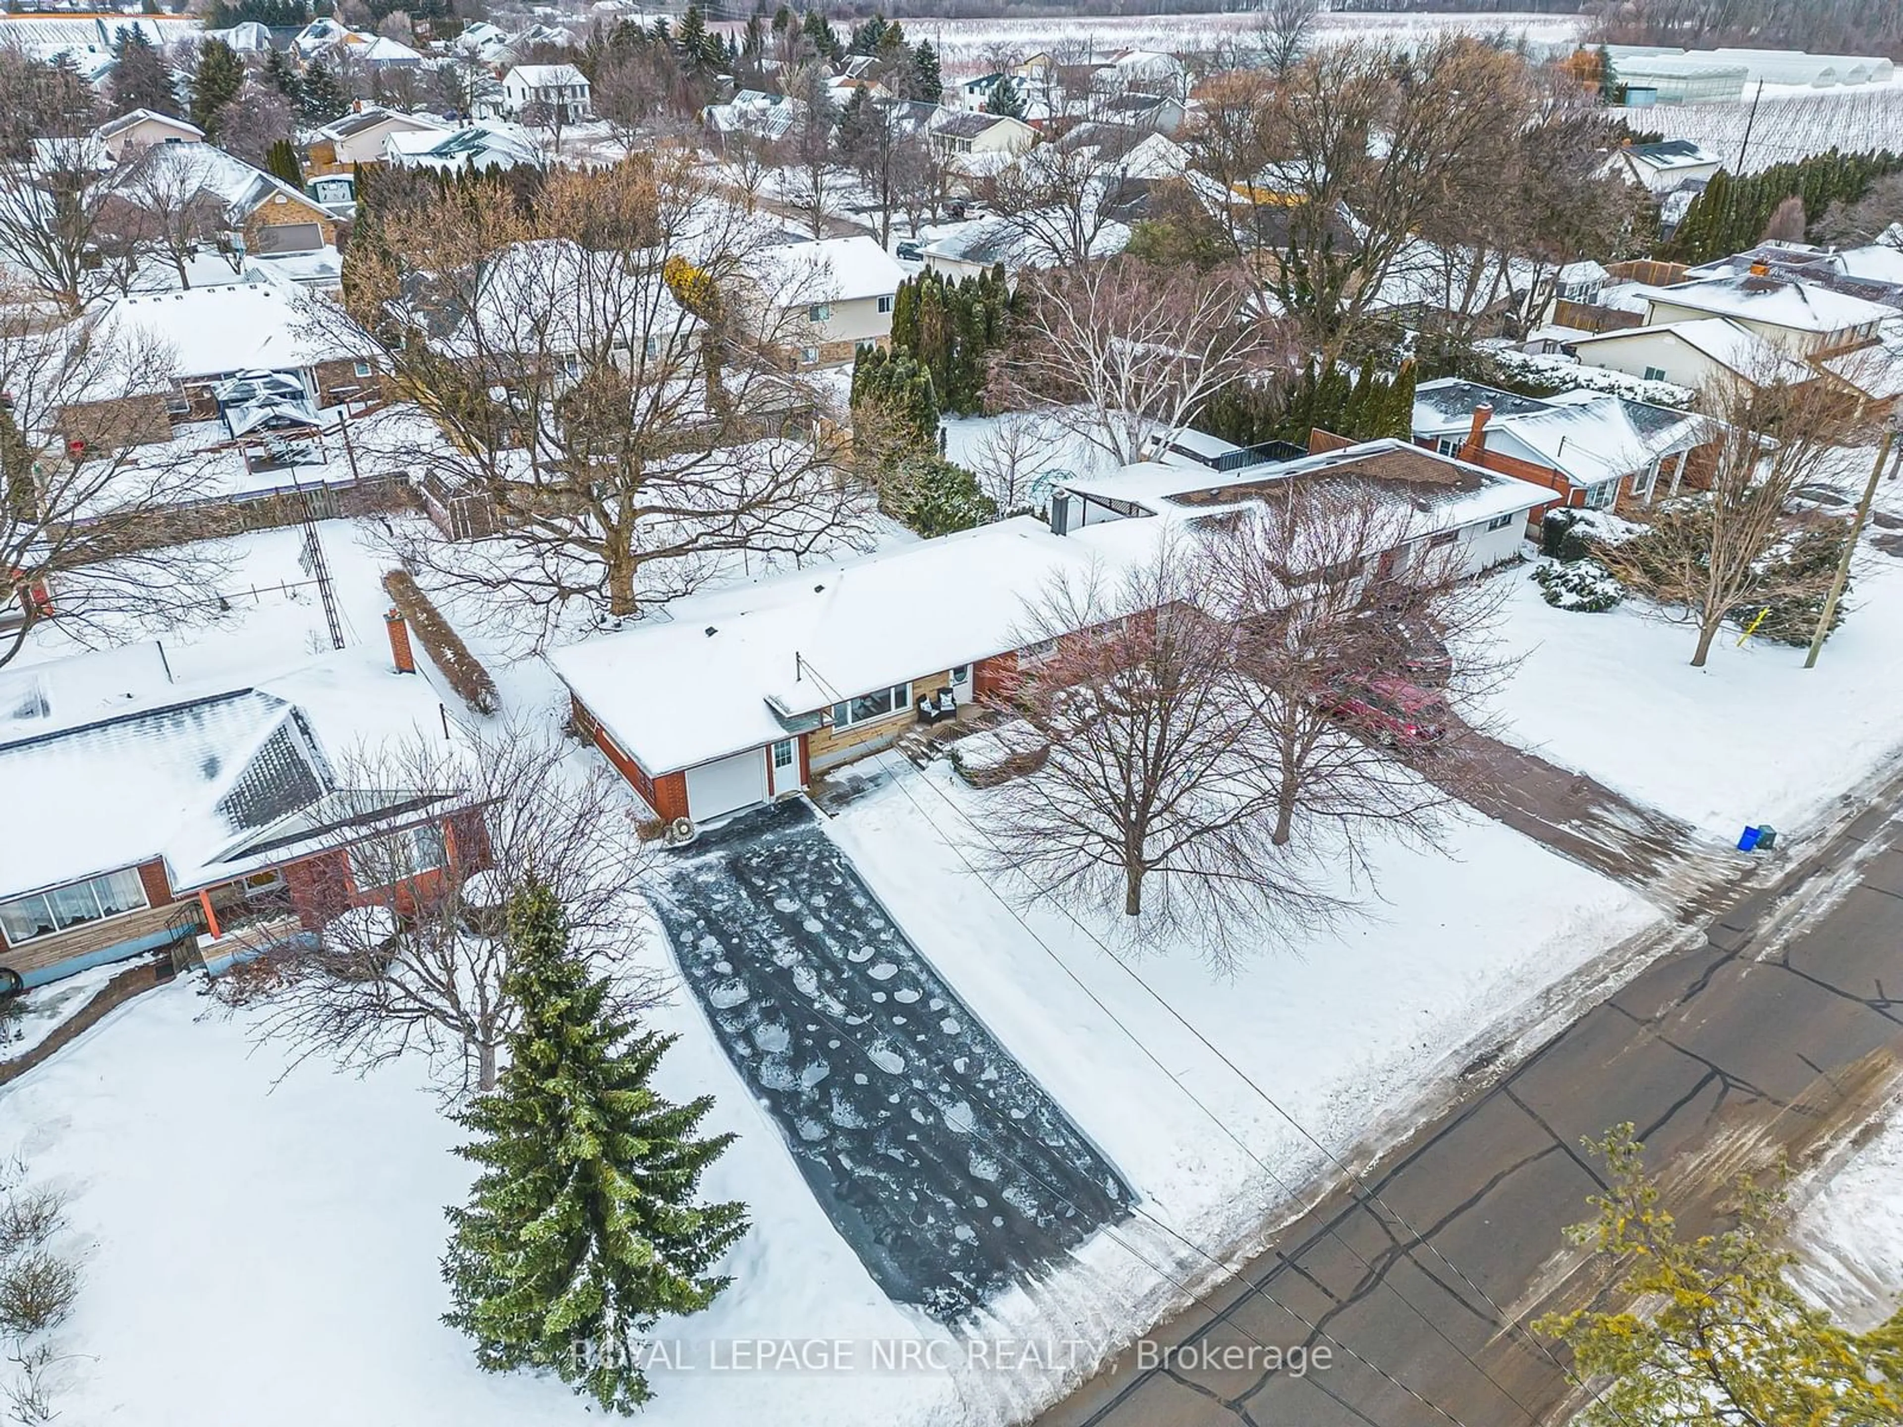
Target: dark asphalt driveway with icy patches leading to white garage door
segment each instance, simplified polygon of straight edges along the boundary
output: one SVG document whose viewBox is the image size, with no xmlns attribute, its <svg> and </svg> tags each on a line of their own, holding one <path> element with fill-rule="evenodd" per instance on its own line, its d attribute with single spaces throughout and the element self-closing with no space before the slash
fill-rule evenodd
<svg viewBox="0 0 1903 1427">
<path fill-rule="evenodd" d="M 805 803 L 723 828 L 664 881 L 687 984 L 889 1298 L 955 1319 L 1128 1214 Z"/>
</svg>

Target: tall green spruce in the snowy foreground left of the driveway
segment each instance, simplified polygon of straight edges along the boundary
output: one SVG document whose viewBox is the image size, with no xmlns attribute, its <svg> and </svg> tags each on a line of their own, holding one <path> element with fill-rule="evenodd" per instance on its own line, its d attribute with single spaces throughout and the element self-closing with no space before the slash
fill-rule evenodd
<svg viewBox="0 0 1903 1427">
<path fill-rule="evenodd" d="M 712 1096 L 662 1100 L 649 1079 L 674 1037 L 638 1031 L 569 951 L 561 904 L 531 883 L 508 908 L 521 1007 L 510 1065 L 457 1119 L 481 1166 L 449 1210 L 443 1317 L 489 1372 L 554 1370 L 628 1414 L 651 1397 L 638 1360 L 660 1315 L 698 1313 L 727 1279 L 708 1269 L 746 1233 L 744 1204 L 695 1199 L 733 1136 L 696 1140 Z"/>
</svg>

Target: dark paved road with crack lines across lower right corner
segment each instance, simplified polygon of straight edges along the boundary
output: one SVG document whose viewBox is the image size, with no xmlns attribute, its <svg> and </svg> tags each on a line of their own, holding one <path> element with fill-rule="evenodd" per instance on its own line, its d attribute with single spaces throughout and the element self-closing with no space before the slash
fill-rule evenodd
<svg viewBox="0 0 1903 1427">
<path fill-rule="evenodd" d="M 1893 788 L 1880 807 L 1895 807 Z M 1798 1159 L 1855 1123 L 1903 1050 L 1895 835 L 1867 812 L 1777 887 L 1718 911 L 1703 942 L 1471 1086 L 1366 1178 L 1372 1193 L 1336 1191 L 1290 1223 L 1245 1269 L 1264 1292 L 1229 1279 L 1151 1334 L 1233 1347 L 1229 1360 L 1256 1343 L 1330 1343 L 1334 1366 L 1298 1378 L 1227 1370 L 1222 1357 L 1212 1368 L 1205 1355 L 1157 1368 L 1138 1347 L 1039 1427 L 1564 1421 L 1576 1397 L 1557 1360 L 1501 1324 L 1599 1286 L 1560 1237 L 1599 1185 L 1581 1136 L 1638 1124 L 1652 1161 L 1671 1164 L 1675 1210 L 1697 1223 L 1715 1185 L 1762 1163 L 1768 1145 Z M 1838 902 L 1821 896 L 1850 877 Z M 1808 902 L 1829 909 L 1806 917 Z"/>
</svg>

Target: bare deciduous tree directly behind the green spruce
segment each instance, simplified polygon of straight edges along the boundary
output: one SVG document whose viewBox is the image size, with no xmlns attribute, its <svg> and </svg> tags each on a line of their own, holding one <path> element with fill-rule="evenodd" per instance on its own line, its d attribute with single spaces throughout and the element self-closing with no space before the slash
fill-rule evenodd
<svg viewBox="0 0 1903 1427">
<path fill-rule="evenodd" d="M 504 991 L 512 951 L 502 911 L 531 879 L 561 900 L 573 949 L 596 974 L 615 972 L 624 1008 L 653 999 L 657 984 L 622 961 L 643 850 L 613 772 L 580 772 L 558 740 L 500 725 L 464 746 L 419 734 L 362 750 L 339 769 L 339 784 L 341 799 L 377 807 L 413 793 L 443 809 L 480 809 L 481 835 L 453 818 L 457 854 L 422 856 L 443 868 L 419 883 L 417 812 L 403 801 L 390 816 L 333 833 L 352 881 L 383 890 L 369 906 L 339 909 L 318 946 L 284 944 L 240 968 L 230 993 L 261 999 L 261 1039 L 287 1041 L 299 1060 L 325 1054 L 354 1067 L 421 1050 L 447 1069 L 453 1094 L 491 1090 L 518 1018 Z"/>
</svg>

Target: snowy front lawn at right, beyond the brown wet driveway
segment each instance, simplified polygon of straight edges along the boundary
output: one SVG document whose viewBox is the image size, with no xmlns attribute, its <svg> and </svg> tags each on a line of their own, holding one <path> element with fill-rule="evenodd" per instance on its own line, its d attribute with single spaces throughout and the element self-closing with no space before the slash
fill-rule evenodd
<svg viewBox="0 0 1903 1427">
<path fill-rule="evenodd" d="M 1869 550 L 1869 544 L 1865 542 Z M 1696 632 L 1627 599 L 1583 615 L 1509 580 L 1501 637 L 1522 656 L 1498 693 L 1503 736 L 1715 837 L 1800 831 L 1903 750 L 1903 559 L 1869 552 L 1817 668 L 1728 628 L 1703 670 Z"/>
</svg>

